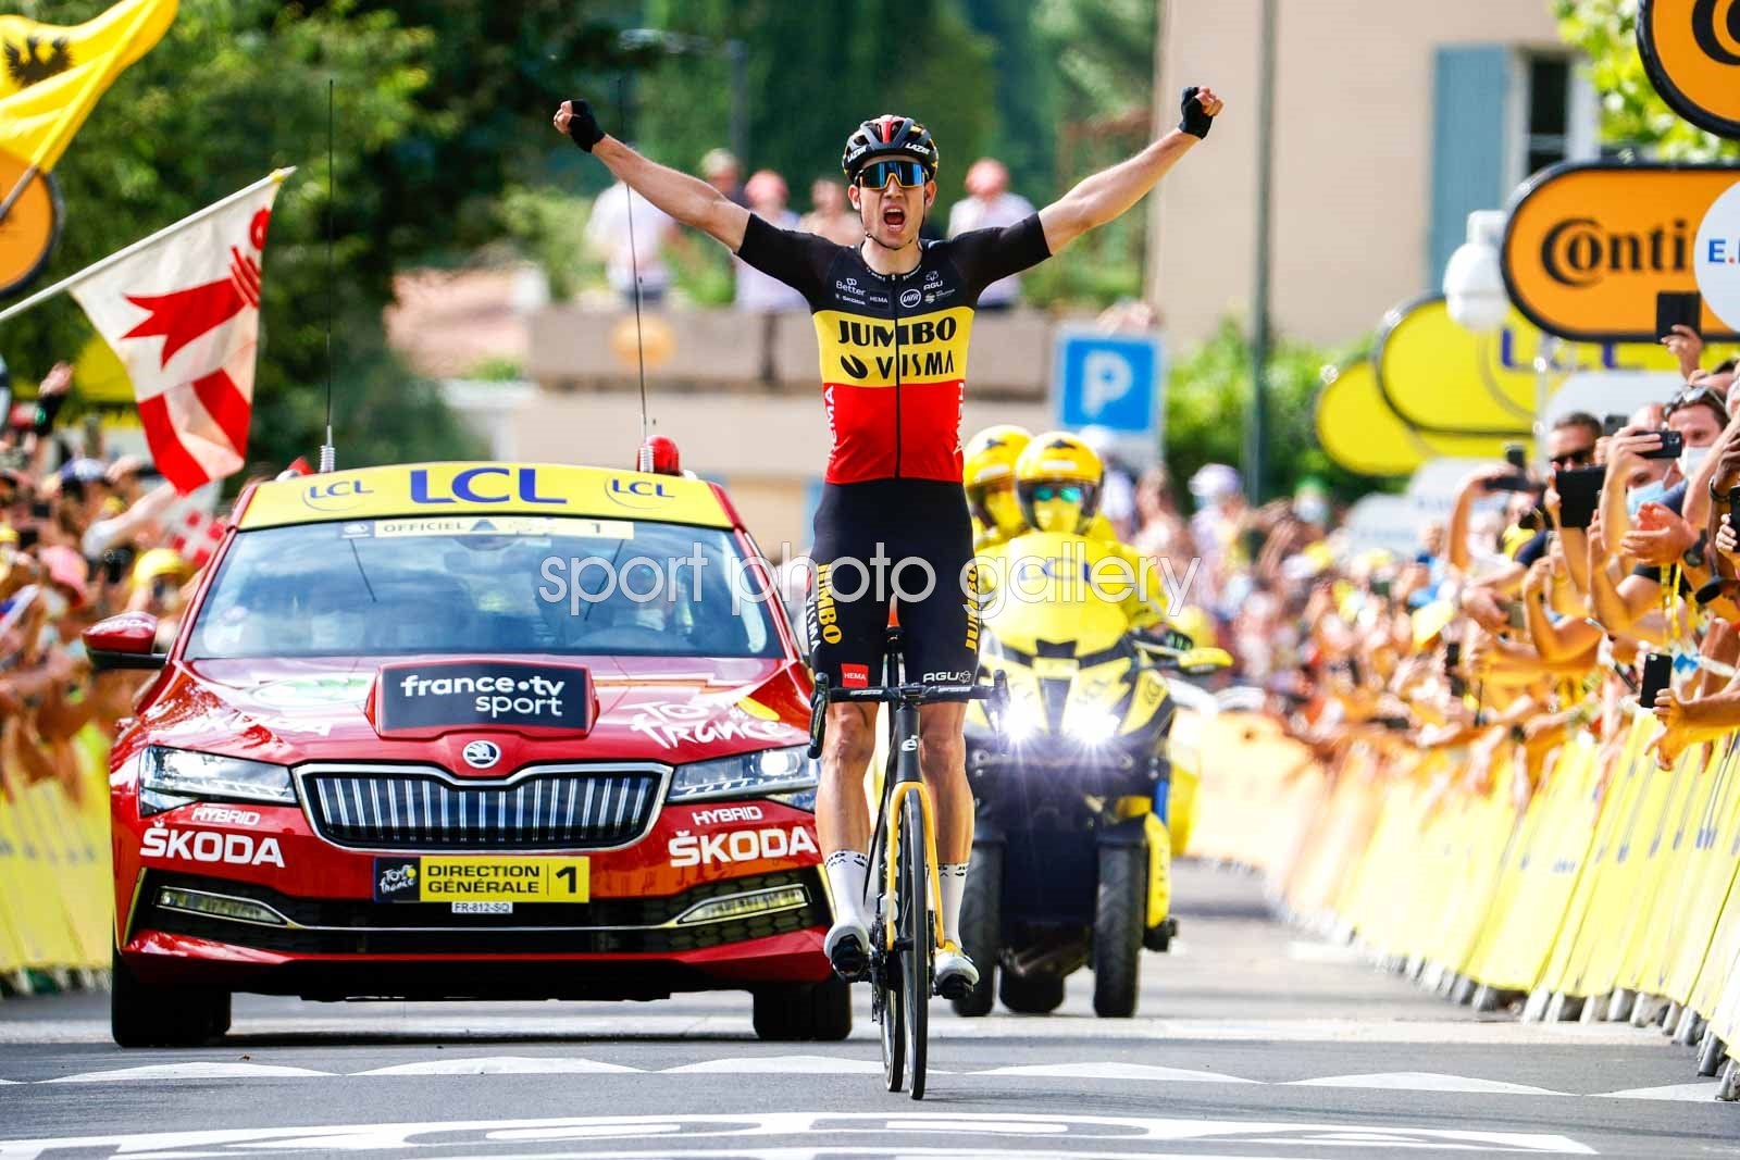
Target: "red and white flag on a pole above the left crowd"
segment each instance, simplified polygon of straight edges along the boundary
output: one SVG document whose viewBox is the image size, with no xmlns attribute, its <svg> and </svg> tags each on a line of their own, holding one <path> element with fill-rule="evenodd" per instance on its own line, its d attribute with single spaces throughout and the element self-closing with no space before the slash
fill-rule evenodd
<svg viewBox="0 0 1740 1160">
<path fill-rule="evenodd" d="M 254 416 L 263 181 L 127 252 L 68 292 L 132 379 L 151 459 L 186 496 L 242 468 Z"/>
</svg>

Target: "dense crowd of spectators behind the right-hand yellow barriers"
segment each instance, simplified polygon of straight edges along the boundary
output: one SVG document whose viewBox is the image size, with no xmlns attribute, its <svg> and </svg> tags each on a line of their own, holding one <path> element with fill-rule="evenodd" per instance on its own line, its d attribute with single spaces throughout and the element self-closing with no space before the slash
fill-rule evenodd
<svg viewBox="0 0 1740 1160">
<path fill-rule="evenodd" d="M 1665 344 L 1683 384 L 1625 416 L 1571 412 L 1472 471 L 1411 555 L 1361 551 L 1322 489 L 1249 508 L 1232 468 L 1136 485 L 1134 543 L 1201 562 L 1195 630 L 1328 767 L 1366 743 L 1456 750 L 1484 793 L 1495 760 L 1533 795 L 1573 734 L 1613 769 L 1632 713 L 1653 713 L 1667 769 L 1740 729 L 1740 414 L 1735 360 L 1702 367 L 1690 330 Z M 1740 403 L 1740 397 L 1735 398 Z"/>
</svg>

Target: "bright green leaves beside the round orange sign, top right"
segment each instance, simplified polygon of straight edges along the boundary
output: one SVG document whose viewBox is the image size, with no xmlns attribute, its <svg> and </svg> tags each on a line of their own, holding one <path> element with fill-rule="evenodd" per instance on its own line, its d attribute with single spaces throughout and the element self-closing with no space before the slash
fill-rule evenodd
<svg viewBox="0 0 1740 1160">
<path fill-rule="evenodd" d="M 1681 162 L 1740 157 L 1740 143 L 1681 120 L 1650 83 L 1637 56 L 1637 0 L 1554 0 L 1552 12 L 1564 42 L 1590 61 L 1606 144 Z"/>
</svg>

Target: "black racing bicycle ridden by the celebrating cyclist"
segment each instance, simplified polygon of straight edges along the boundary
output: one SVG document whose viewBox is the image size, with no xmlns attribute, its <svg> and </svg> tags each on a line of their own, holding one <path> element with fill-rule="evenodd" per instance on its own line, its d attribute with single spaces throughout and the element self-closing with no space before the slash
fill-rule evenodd
<svg viewBox="0 0 1740 1160">
<path fill-rule="evenodd" d="M 865 880 L 865 901 L 872 915 L 870 1017 L 882 1030 L 882 1078 L 887 1090 L 901 1089 L 910 1061 L 912 1097 L 924 1099 L 926 1017 L 936 948 L 943 943 L 943 908 L 936 875 L 934 805 L 919 772 L 919 706 L 933 701 L 987 701 L 995 722 L 1007 704 L 1009 687 L 1002 673 L 992 683 L 905 683 L 901 630 L 893 624 L 882 663 L 884 683 L 877 687 L 835 689 L 825 673 L 816 677 L 809 708 L 809 755 L 821 757 L 830 703 L 870 701 L 893 706 L 882 805 L 870 840 L 872 863 Z"/>
</svg>

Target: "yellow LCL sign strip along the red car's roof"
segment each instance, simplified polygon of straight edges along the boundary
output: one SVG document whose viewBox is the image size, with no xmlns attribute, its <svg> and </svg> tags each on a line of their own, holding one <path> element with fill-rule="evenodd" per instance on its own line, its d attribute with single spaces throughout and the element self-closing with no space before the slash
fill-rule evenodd
<svg viewBox="0 0 1740 1160">
<path fill-rule="evenodd" d="M 712 485 L 550 463 L 425 463 L 261 483 L 242 529 L 388 517 L 545 515 L 731 527 Z"/>
</svg>

